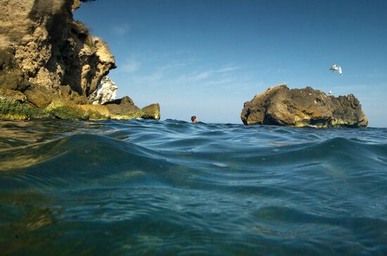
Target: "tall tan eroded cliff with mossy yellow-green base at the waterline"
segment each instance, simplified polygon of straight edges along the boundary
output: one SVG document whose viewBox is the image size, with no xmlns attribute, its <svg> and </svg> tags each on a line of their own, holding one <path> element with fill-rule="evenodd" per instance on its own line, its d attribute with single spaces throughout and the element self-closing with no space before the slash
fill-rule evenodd
<svg viewBox="0 0 387 256">
<path fill-rule="evenodd" d="M 113 84 L 103 87 L 115 58 L 73 20 L 80 0 L 0 0 L 0 6 L 0 118 L 66 118 L 65 111 L 82 119 L 142 116 L 141 109 L 128 116 L 101 105 L 115 97 Z"/>
</svg>

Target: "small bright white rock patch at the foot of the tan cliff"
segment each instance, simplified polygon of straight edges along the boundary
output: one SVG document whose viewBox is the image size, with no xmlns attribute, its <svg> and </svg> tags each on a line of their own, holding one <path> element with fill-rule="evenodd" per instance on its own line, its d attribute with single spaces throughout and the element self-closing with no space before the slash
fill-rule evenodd
<svg viewBox="0 0 387 256">
<path fill-rule="evenodd" d="M 117 90 L 118 87 L 115 83 L 111 81 L 108 76 L 103 76 L 101 83 L 99 83 L 94 93 L 89 95 L 89 100 L 91 104 L 102 105 L 105 102 L 115 100 Z"/>
</svg>

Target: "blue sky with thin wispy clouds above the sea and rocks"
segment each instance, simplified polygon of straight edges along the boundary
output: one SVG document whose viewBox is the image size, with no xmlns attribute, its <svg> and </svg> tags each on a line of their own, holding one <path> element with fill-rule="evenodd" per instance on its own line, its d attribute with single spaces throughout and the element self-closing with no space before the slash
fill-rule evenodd
<svg viewBox="0 0 387 256">
<path fill-rule="evenodd" d="M 118 97 L 159 102 L 162 119 L 241 123 L 243 102 L 287 83 L 353 93 L 387 127 L 386 13 L 385 0 L 97 0 L 74 15 L 115 55 Z"/>
</svg>

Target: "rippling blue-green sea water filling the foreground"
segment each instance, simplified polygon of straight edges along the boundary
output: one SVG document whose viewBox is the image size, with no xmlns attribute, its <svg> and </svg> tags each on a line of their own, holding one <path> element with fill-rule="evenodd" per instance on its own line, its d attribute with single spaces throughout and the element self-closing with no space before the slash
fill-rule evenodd
<svg viewBox="0 0 387 256">
<path fill-rule="evenodd" d="M 1 121 L 0 255 L 387 255 L 387 129 Z"/>
</svg>

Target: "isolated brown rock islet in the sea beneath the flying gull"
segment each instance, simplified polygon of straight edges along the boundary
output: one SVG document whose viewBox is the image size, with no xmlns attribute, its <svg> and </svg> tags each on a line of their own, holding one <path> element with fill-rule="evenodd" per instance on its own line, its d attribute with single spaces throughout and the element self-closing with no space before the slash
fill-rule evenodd
<svg viewBox="0 0 387 256">
<path fill-rule="evenodd" d="M 285 84 L 267 89 L 245 102 L 241 113 L 245 125 L 365 127 L 367 118 L 359 100 L 327 96 L 311 87 L 289 89 Z"/>
</svg>

